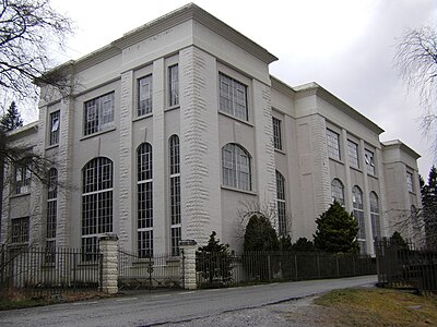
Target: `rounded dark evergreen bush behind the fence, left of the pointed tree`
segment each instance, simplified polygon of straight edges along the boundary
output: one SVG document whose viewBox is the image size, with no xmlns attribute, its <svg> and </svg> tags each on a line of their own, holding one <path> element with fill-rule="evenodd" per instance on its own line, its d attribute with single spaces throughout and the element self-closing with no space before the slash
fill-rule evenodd
<svg viewBox="0 0 437 327">
<path fill-rule="evenodd" d="M 276 251 L 279 247 L 276 231 L 270 220 L 261 214 L 252 215 L 246 227 L 245 252 Z"/>
</svg>

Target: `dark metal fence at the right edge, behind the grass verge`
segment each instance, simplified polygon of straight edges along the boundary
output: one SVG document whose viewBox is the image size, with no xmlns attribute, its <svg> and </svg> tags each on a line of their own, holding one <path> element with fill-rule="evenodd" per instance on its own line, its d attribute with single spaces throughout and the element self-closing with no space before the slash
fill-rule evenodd
<svg viewBox="0 0 437 327">
<path fill-rule="evenodd" d="M 400 245 L 390 240 L 375 242 L 378 282 L 391 288 L 437 291 L 437 252 Z"/>
</svg>

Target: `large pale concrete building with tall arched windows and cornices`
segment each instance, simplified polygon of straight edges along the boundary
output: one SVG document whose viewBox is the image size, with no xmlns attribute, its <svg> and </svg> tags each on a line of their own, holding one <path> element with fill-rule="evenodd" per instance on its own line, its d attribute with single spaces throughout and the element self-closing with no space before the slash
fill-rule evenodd
<svg viewBox="0 0 437 327">
<path fill-rule="evenodd" d="M 2 240 L 90 251 L 113 232 L 146 256 L 216 231 L 239 251 L 245 205 L 273 207 L 277 231 L 296 241 L 336 198 L 374 253 L 397 213 L 421 206 L 418 155 L 382 144 L 378 125 L 321 86 L 271 76 L 275 60 L 188 4 L 67 62 L 71 95 L 43 87 L 39 120 L 10 135 L 54 160 L 64 187 L 19 170 Z"/>
</svg>

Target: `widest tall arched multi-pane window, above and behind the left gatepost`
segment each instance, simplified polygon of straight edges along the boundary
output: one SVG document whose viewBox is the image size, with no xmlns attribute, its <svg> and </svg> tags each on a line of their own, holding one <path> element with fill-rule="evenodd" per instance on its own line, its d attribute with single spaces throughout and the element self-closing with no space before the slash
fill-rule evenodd
<svg viewBox="0 0 437 327">
<path fill-rule="evenodd" d="M 95 261 L 97 237 L 113 231 L 113 161 L 98 157 L 82 169 L 82 259 Z"/>
</svg>

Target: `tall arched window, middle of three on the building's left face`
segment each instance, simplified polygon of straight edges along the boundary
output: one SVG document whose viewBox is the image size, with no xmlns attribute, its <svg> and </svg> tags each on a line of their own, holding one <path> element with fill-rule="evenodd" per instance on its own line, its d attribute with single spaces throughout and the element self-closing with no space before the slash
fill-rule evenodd
<svg viewBox="0 0 437 327">
<path fill-rule="evenodd" d="M 152 145 L 141 144 L 138 160 L 138 256 L 153 257 L 153 174 Z"/>
</svg>

